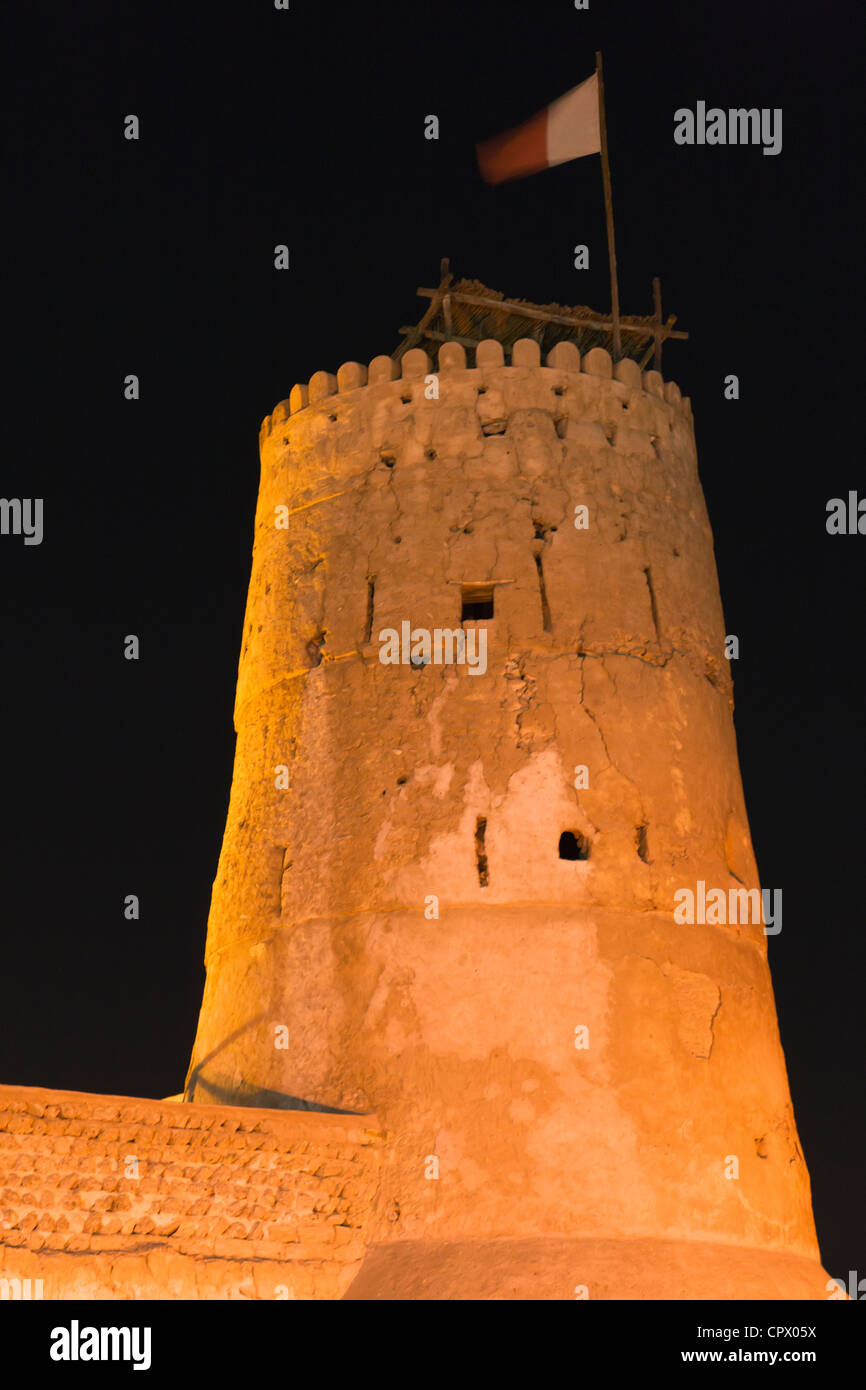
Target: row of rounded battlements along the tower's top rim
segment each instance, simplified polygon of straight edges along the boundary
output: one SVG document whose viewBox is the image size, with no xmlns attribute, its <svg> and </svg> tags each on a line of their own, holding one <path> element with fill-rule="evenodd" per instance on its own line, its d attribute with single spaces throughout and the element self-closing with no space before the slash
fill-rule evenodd
<svg viewBox="0 0 866 1390">
<path fill-rule="evenodd" d="M 542 373 L 566 373 L 569 375 L 581 374 L 595 378 L 599 385 L 609 382 L 610 391 L 626 388 L 630 392 L 642 392 L 656 400 L 666 402 L 677 414 L 692 418 L 691 400 L 683 396 L 676 381 L 664 381 L 659 371 L 641 371 L 637 361 L 624 357 L 613 363 L 610 353 L 605 348 L 591 348 L 581 354 L 574 343 L 559 342 L 548 352 L 545 367 L 541 364 L 541 348 L 532 338 L 520 338 L 512 348 L 509 361 L 506 349 L 496 338 L 487 338 L 475 349 L 474 368 L 468 367 L 466 349 L 461 343 L 442 343 L 436 354 L 436 361 L 421 348 L 411 348 L 396 361 L 393 357 L 374 357 L 368 366 L 360 361 L 345 361 L 338 371 L 317 371 L 309 382 L 292 386 L 288 398 L 281 400 L 270 416 L 261 421 L 259 432 L 260 442 L 264 442 L 271 431 L 284 424 L 292 416 L 320 404 L 334 396 L 345 396 L 350 392 L 367 386 L 381 386 L 389 382 L 418 382 L 424 384 L 431 375 L 445 375 L 457 371 L 475 371 L 481 375 L 488 368 L 510 367 L 514 370 L 537 368 Z"/>
</svg>

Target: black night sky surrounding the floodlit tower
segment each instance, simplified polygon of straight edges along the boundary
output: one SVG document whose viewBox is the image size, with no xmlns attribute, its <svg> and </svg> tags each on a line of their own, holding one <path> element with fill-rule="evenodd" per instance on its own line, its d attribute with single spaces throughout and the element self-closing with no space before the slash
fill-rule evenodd
<svg viewBox="0 0 866 1390">
<path fill-rule="evenodd" d="M 598 158 L 498 189 L 474 163 L 475 139 L 582 81 L 601 47 L 623 310 L 648 313 L 660 275 L 689 332 L 664 373 L 692 398 L 741 641 L 737 734 L 762 881 L 784 892 L 770 963 L 819 1237 L 831 1273 L 866 1273 L 866 537 L 824 524 L 828 498 L 866 495 L 855 17 L 835 0 L 4 7 L 0 495 L 44 498 L 44 539 L 0 537 L 0 1080 L 181 1088 L 259 424 L 295 381 L 392 352 L 441 256 L 607 311 Z M 673 113 L 698 100 L 781 107 L 781 154 L 676 146 Z"/>
</svg>

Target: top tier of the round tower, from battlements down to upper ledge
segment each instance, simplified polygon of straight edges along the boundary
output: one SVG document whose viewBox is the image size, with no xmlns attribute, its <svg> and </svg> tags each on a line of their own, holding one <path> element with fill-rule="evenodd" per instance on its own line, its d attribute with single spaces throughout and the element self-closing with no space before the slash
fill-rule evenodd
<svg viewBox="0 0 866 1390">
<path fill-rule="evenodd" d="M 452 341 L 316 373 L 260 448 L 239 723 L 275 682 L 375 659 L 370 612 L 459 621 L 470 581 L 498 585 L 496 646 L 676 651 L 730 698 L 691 409 L 659 373 L 571 342 L 542 364 L 532 338 L 467 366 Z"/>
</svg>

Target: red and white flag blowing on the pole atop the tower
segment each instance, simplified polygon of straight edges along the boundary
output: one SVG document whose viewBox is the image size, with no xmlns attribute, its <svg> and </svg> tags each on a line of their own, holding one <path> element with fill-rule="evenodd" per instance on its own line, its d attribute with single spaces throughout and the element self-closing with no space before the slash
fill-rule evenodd
<svg viewBox="0 0 866 1390">
<path fill-rule="evenodd" d="M 584 154 L 599 154 L 598 72 L 530 121 L 482 140 L 475 149 L 487 183 L 505 183 L 510 178 L 524 178 L 555 164 L 580 160 Z"/>
</svg>

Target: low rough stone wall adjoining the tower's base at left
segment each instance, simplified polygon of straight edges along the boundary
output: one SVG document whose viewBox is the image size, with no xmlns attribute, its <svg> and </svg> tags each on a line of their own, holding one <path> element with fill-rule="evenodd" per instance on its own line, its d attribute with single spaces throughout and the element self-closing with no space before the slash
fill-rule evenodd
<svg viewBox="0 0 866 1390">
<path fill-rule="evenodd" d="M 339 1298 L 381 1144 L 374 1116 L 3 1086 L 0 1279 L 42 1279 L 43 1298 Z"/>
</svg>

